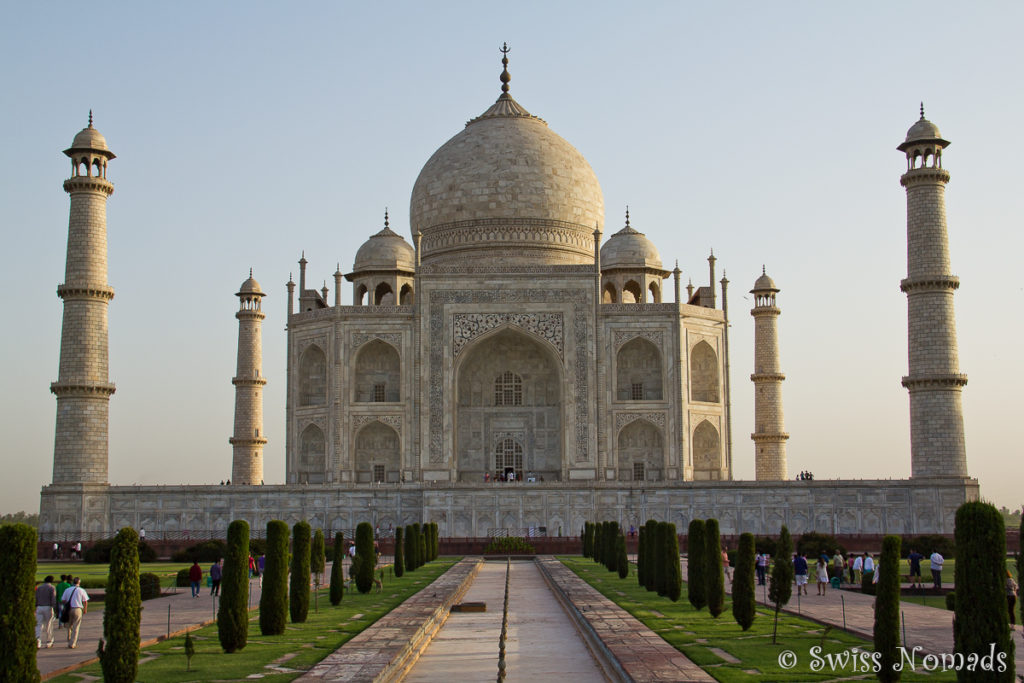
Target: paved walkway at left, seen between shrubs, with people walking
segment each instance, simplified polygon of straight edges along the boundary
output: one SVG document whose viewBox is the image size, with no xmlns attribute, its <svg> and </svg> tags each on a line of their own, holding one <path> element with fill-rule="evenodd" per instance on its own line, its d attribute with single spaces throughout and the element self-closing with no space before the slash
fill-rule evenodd
<svg viewBox="0 0 1024 683">
<path fill-rule="evenodd" d="M 259 604 L 259 582 L 252 580 L 250 585 L 250 602 L 253 607 Z M 172 589 L 173 590 L 173 589 Z M 86 589 L 88 592 L 88 589 Z M 67 671 L 77 669 L 96 659 L 96 646 L 103 635 L 102 602 L 91 603 L 92 607 L 82 621 L 78 636 L 78 647 L 68 647 L 68 632 L 57 631 L 54 627 L 53 647 L 47 649 L 45 643 L 37 651 L 36 663 L 43 680 L 52 678 Z M 168 607 L 170 607 L 170 626 L 168 627 Z M 142 603 L 141 641 L 143 645 L 174 636 L 186 629 L 209 624 L 216 618 L 216 599 L 210 596 L 210 589 L 204 587 L 200 597 L 193 598 L 187 588 L 177 589 L 177 594 L 167 595 Z"/>
</svg>

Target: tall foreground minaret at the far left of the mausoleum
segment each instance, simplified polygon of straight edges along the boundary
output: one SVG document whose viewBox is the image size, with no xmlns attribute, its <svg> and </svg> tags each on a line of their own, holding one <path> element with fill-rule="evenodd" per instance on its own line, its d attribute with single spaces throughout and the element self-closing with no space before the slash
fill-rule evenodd
<svg viewBox="0 0 1024 683">
<path fill-rule="evenodd" d="M 106 163 L 114 153 L 89 125 L 65 150 L 71 158 L 68 261 L 60 327 L 60 366 L 50 391 L 57 397 L 53 439 L 53 483 L 106 483 L 108 428 L 114 385 L 108 376 L 106 308 L 114 289 L 106 283 L 106 198 L 114 184 Z"/>
</svg>

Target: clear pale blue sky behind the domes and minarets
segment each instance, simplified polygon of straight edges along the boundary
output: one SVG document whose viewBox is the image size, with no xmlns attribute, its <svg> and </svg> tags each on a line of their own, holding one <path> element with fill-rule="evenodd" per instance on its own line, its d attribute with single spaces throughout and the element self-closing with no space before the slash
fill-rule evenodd
<svg viewBox="0 0 1024 683">
<path fill-rule="evenodd" d="M 409 238 L 430 155 L 512 95 L 588 159 L 605 234 L 632 224 L 730 286 L 734 470 L 754 478 L 752 301 L 778 304 L 792 473 L 909 475 L 905 199 L 919 103 L 947 190 L 968 468 L 1019 506 L 1024 387 L 1022 3 L 15 3 L 0 26 L 0 512 L 51 478 L 70 162 L 95 113 L 109 177 L 112 483 L 230 475 L 238 299 L 264 301 L 264 471 L 285 474 L 285 283 Z M 684 281 L 685 282 L 685 281 Z M 350 301 L 348 284 L 343 301 Z M 671 292 L 671 284 L 666 291 Z M 331 294 L 333 299 L 333 293 Z"/>
</svg>

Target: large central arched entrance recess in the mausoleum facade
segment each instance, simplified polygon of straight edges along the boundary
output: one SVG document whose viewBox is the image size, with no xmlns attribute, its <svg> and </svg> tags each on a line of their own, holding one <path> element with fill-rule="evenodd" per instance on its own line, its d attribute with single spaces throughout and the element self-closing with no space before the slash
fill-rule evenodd
<svg viewBox="0 0 1024 683">
<path fill-rule="evenodd" d="M 467 347 L 456 365 L 457 478 L 562 476 L 562 371 L 544 342 L 504 328 Z"/>
</svg>

